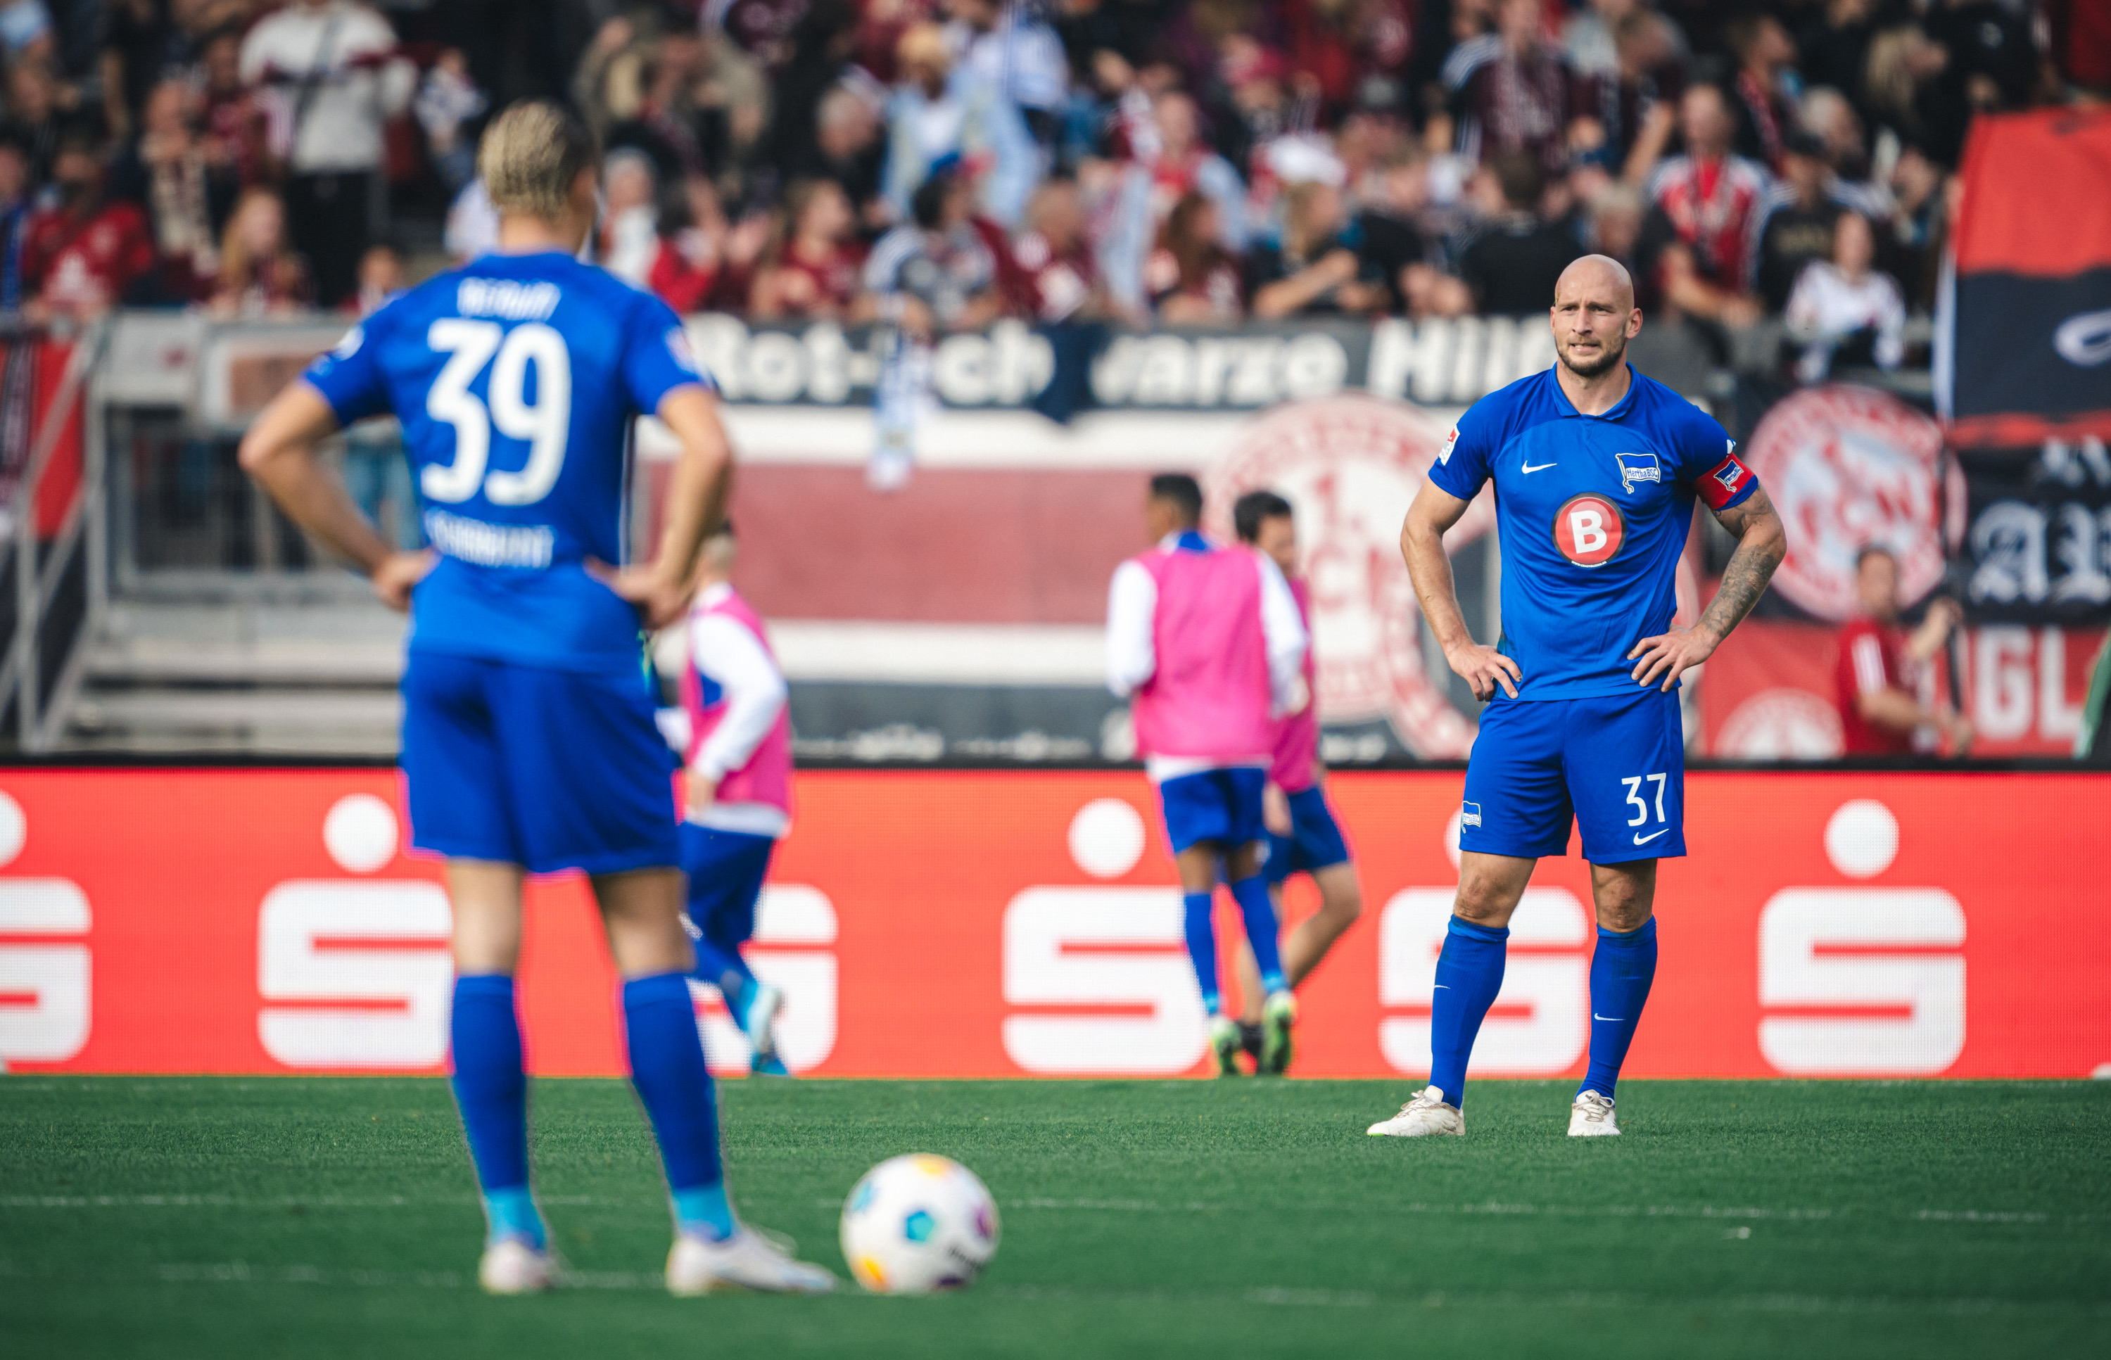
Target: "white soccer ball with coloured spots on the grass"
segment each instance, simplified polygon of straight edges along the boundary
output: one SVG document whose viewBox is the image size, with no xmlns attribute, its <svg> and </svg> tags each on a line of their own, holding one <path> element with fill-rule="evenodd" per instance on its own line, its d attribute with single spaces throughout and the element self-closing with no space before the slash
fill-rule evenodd
<svg viewBox="0 0 2111 1360">
<path fill-rule="evenodd" d="M 842 1202 L 842 1259 L 876 1295 L 967 1288 L 996 1254 L 996 1202 L 952 1157 L 880 1161 Z"/>
</svg>

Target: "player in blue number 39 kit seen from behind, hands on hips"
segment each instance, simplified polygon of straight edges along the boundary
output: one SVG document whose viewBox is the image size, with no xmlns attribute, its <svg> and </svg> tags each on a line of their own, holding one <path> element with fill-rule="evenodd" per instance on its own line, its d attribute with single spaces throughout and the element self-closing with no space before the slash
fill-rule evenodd
<svg viewBox="0 0 2111 1360">
<path fill-rule="evenodd" d="M 640 625 L 680 619 L 733 460 L 680 319 L 574 258 L 595 220 L 595 160 L 572 114 L 509 108 L 477 156 L 498 249 L 367 317 L 258 416 L 241 460 L 412 612 L 403 783 L 412 843 L 448 860 L 454 1094 L 490 1223 L 483 1288 L 553 1282 L 528 1183 L 513 971 L 524 874 L 583 870 L 671 1191 L 667 1288 L 817 1292 L 834 1278 L 743 1227 L 726 1200 L 686 980 L 673 760 L 642 665 Z M 382 412 L 403 422 L 431 553 L 391 551 L 317 456 Z M 621 566 L 629 424 L 646 412 L 682 458 L 659 555 Z"/>
</svg>

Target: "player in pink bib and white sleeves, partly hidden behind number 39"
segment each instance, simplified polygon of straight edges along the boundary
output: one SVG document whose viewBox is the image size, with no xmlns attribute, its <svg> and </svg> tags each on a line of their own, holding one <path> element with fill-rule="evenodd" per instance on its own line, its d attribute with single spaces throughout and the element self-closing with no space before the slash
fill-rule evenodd
<svg viewBox="0 0 2111 1360">
<path fill-rule="evenodd" d="M 756 933 L 756 902 L 771 853 L 792 830 L 790 691 L 762 617 L 728 579 L 735 551 L 728 522 L 703 545 L 701 587 L 688 615 L 684 923 L 697 946 L 692 976 L 726 999 L 754 1050 L 752 1069 L 785 1077 L 775 1031 L 783 990 L 756 978 L 741 946 Z"/>
</svg>

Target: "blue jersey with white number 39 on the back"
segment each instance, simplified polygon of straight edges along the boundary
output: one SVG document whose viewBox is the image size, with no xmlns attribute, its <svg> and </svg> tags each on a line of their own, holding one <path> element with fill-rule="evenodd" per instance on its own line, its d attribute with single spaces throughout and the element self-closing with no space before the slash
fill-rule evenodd
<svg viewBox="0 0 2111 1360">
<path fill-rule="evenodd" d="M 483 256 L 367 317 L 306 380 L 338 424 L 403 422 L 439 551 L 412 650 L 640 665 L 638 610 L 585 562 L 625 555 L 631 418 L 707 382 L 665 302 L 566 253 Z"/>
</svg>

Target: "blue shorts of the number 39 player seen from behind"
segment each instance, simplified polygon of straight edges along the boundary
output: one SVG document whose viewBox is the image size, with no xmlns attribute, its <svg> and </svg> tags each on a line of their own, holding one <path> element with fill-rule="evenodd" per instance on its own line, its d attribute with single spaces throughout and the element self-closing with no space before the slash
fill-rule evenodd
<svg viewBox="0 0 2111 1360">
<path fill-rule="evenodd" d="M 426 650 L 403 667 L 403 786 L 422 851 L 532 874 L 673 866 L 676 769 L 642 672 Z"/>
</svg>

